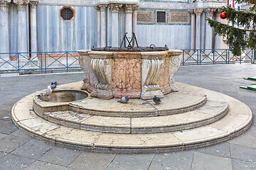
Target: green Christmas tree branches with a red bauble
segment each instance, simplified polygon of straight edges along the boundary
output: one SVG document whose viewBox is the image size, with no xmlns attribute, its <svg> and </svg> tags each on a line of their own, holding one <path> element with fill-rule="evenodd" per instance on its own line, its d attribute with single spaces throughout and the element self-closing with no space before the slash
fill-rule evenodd
<svg viewBox="0 0 256 170">
<path fill-rule="evenodd" d="M 238 4 L 247 2 L 254 4 L 255 0 L 236 0 Z M 207 18 L 210 27 L 215 28 L 216 35 L 222 35 L 225 44 L 233 47 L 233 55 L 241 55 L 241 50 L 256 49 L 256 5 L 250 11 L 238 11 L 231 6 L 223 6 L 220 18 L 227 19 L 228 24 Z"/>
</svg>

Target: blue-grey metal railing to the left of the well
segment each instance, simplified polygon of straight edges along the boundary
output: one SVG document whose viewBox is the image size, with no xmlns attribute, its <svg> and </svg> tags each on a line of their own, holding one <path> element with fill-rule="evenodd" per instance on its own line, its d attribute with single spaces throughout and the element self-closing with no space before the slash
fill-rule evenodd
<svg viewBox="0 0 256 170">
<path fill-rule="evenodd" d="M 0 53 L 0 74 L 81 70 L 78 57 L 73 51 Z"/>
</svg>

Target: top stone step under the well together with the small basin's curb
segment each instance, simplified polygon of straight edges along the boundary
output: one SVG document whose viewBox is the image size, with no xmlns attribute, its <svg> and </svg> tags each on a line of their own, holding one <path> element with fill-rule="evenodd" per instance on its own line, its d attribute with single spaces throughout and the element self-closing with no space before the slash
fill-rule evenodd
<svg viewBox="0 0 256 170">
<path fill-rule="evenodd" d="M 130 99 L 128 103 L 118 103 L 118 98 L 102 100 L 92 97 L 90 94 L 82 101 L 51 103 L 41 101 L 36 96 L 39 92 L 36 92 L 33 96 L 33 108 L 43 118 L 47 116 L 46 112 L 66 110 L 89 115 L 137 118 L 184 113 L 200 108 L 206 103 L 206 94 L 197 87 L 178 84 L 178 88 L 181 89 L 179 92 L 164 96 L 159 105 L 156 105 L 152 100 L 144 101 L 141 99 Z"/>
</svg>

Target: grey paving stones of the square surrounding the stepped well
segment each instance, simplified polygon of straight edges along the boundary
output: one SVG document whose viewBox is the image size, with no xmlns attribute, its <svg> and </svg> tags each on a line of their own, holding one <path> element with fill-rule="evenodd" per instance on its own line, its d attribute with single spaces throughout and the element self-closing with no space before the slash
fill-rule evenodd
<svg viewBox="0 0 256 170">
<path fill-rule="evenodd" d="M 255 91 L 240 89 L 254 81 L 255 64 L 180 67 L 176 81 L 227 94 L 244 102 L 254 115 L 252 127 L 233 140 L 184 152 L 164 154 L 104 154 L 54 147 L 18 130 L 10 119 L 11 107 L 51 81 L 81 81 L 82 73 L 8 76 L 0 74 L 0 169 L 256 169 Z"/>
</svg>

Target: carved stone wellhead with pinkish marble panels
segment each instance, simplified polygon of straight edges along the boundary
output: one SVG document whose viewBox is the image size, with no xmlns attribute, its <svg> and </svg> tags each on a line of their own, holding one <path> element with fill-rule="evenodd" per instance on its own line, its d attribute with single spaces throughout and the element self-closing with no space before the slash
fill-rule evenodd
<svg viewBox="0 0 256 170">
<path fill-rule="evenodd" d="M 181 63 L 181 50 L 153 52 L 109 52 L 80 50 L 79 63 L 85 72 L 83 90 L 102 99 L 164 98 L 174 85 Z"/>
</svg>

